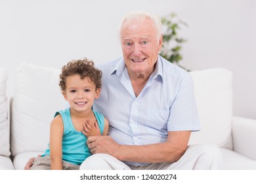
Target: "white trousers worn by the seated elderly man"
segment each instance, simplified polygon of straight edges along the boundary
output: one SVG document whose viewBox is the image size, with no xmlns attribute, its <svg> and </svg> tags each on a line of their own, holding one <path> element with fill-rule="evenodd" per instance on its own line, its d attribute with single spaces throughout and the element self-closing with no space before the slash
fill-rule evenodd
<svg viewBox="0 0 256 183">
<path fill-rule="evenodd" d="M 94 154 L 85 159 L 82 170 L 210 170 L 223 169 L 224 159 L 218 146 L 197 144 L 188 146 L 184 155 L 175 163 L 151 163 L 130 166 L 108 154 Z"/>
</svg>

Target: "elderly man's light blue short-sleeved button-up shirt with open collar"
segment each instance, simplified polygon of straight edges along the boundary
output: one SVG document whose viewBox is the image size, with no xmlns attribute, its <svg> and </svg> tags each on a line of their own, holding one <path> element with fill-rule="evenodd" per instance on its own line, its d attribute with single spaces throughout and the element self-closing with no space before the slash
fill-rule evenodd
<svg viewBox="0 0 256 183">
<path fill-rule="evenodd" d="M 123 58 L 97 67 L 103 73 L 102 90 L 93 109 L 108 119 L 108 134 L 117 143 L 165 142 L 168 131 L 200 130 L 192 77 L 184 69 L 159 56 L 156 69 L 136 97 Z"/>
</svg>

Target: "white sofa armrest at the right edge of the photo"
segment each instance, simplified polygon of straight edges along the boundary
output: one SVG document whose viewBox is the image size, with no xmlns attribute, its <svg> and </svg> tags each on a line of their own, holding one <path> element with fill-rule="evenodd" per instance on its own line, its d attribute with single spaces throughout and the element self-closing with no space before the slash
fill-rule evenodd
<svg viewBox="0 0 256 183">
<path fill-rule="evenodd" d="M 234 151 L 256 160 L 256 120 L 233 116 Z"/>
</svg>

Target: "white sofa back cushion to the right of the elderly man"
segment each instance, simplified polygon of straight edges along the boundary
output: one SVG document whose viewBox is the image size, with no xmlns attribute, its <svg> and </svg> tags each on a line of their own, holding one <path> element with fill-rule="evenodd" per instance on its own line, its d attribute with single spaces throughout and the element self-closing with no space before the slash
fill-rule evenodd
<svg viewBox="0 0 256 183">
<path fill-rule="evenodd" d="M 190 72 L 201 131 L 191 135 L 189 144 L 213 143 L 232 149 L 232 73 L 215 68 Z"/>
</svg>

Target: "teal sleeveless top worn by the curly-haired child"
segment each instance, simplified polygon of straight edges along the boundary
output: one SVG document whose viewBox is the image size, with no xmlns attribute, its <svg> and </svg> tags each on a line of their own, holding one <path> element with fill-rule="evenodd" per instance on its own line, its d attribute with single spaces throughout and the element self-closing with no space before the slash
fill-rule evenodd
<svg viewBox="0 0 256 183">
<path fill-rule="evenodd" d="M 104 116 L 94 110 L 93 113 L 95 114 L 95 118 L 98 122 L 100 134 L 102 134 L 104 131 Z M 87 137 L 85 137 L 81 131 L 77 131 L 72 124 L 70 108 L 56 112 L 54 117 L 58 114 L 61 115 L 64 125 L 64 133 L 62 137 L 62 159 L 75 165 L 81 165 L 86 158 L 91 156 L 91 152 L 86 144 Z M 49 144 L 42 156 L 46 155 L 50 156 Z"/>
</svg>

